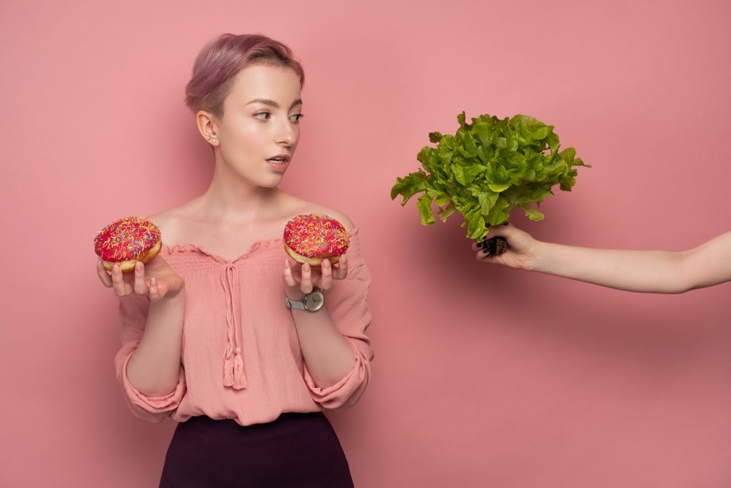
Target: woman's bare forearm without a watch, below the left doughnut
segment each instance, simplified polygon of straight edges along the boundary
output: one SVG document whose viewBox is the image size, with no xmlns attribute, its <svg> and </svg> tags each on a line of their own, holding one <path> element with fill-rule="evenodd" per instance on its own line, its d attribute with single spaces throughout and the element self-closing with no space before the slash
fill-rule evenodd
<svg viewBox="0 0 731 488">
<path fill-rule="evenodd" d="M 127 378 L 147 397 L 162 397 L 178 384 L 185 292 L 152 302 L 145 334 L 127 363 Z"/>
</svg>

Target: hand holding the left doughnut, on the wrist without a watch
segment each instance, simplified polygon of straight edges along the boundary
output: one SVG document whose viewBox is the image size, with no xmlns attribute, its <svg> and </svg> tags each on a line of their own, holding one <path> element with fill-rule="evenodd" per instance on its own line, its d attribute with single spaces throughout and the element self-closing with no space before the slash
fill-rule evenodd
<svg viewBox="0 0 731 488">
<path fill-rule="evenodd" d="M 112 271 L 107 271 L 99 260 L 96 263 L 96 274 L 102 285 L 113 288 L 116 296 L 135 293 L 148 296 L 153 302 L 178 296 L 184 285 L 183 278 L 160 255 L 146 265 L 137 263 L 133 273 L 122 273 L 117 265 Z"/>
</svg>

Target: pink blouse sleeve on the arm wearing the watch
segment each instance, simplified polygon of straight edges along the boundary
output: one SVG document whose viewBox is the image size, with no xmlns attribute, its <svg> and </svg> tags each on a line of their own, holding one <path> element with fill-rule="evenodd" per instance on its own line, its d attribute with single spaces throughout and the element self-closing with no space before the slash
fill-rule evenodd
<svg viewBox="0 0 731 488">
<path fill-rule="evenodd" d="M 352 251 L 353 249 L 351 249 Z M 348 252 L 349 273 L 327 293 L 326 303 L 333 322 L 349 342 L 355 356 L 355 365 L 338 383 L 319 388 L 305 366 L 305 381 L 315 402 L 322 408 L 340 410 L 352 407 L 360 399 L 371 378 L 374 353 L 366 329 L 371 324 L 368 309 L 368 289 L 371 274 L 360 253 Z"/>
</svg>

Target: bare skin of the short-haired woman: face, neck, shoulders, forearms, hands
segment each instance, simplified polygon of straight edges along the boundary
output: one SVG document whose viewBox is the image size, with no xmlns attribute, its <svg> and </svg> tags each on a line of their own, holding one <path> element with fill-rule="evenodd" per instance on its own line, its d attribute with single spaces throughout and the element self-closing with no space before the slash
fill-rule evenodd
<svg viewBox="0 0 731 488">
<path fill-rule="evenodd" d="M 327 213 L 352 229 L 352 222 L 340 212 L 277 187 L 299 142 L 301 110 L 300 80 L 291 68 L 254 64 L 240 70 L 224 100 L 223 114 L 216 117 L 206 110 L 196 114 L 199 132 L 213 148 L 215 166 L 208 190 L 180 207 L 149 217 L 164 234 L 166 245 L 194 243 L 234 260 L 257 241 L 280 238 L 284 225 L 298 214 Z M 273 157 L 281 162 L 273 162 Z M 348 273 L 346 258 L 314 270 L 292 265 L 282 253 L 286 261 L 282 282 L 290 299 L 301 299 L 314 286 L 329 290 Z M 138 263 L 134 274 L 118 269 L 102 273 L 98 267 L 97 274 L 117 296 L 136 293 L 150 298 L 145 332 L 126 372 L 132 386 L 145 396 L 169 394 L 178 383 L 181 364 L 183 279 L 160 255 L 147 265 Z M 292 310 L 292 317 L 317 386 L 337 383 L 355 365 L 355 356 L 327 307 L 314 313 Z"/>
</svg>

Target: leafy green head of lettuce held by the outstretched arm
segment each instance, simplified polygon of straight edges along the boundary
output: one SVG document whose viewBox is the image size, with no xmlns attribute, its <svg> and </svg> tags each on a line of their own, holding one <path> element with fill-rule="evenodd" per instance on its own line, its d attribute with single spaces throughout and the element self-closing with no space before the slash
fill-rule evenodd
<svg viewBox="0 0 731 488">
<path fill-rule="evenodd" d="M 403 197 L 406 205 L 422 193 L 417 209 L 423 225 L 436 222 L 432 204 L 439 207 L 443 222 L 455 212 L 462 214 L 467 237 L 482 241 L 488 227 L 501 225 L 515 209 L 531 220 L 542 220 L 539 203 L 552 195 L 553 186 L 571 191 L 576 183 L 575 166 L 586 166 L 576 150 L 559 151 L 552 125 L 526 115 L 498 119 L 488 114 L 466 123 L 457 116 L 455 135 L 431 132 L 436 147 L 424 146 L 417 155 L 422 168 L 397 178 L 391 199 Z"/>
</svg>

